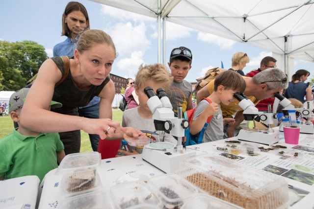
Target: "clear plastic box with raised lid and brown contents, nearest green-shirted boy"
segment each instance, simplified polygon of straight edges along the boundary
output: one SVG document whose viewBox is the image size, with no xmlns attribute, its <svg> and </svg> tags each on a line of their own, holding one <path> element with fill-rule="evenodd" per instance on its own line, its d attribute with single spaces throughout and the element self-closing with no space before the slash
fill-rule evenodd
<svg viewBox="0 0 314 209">
<path fill-rule="evenodd" d="M 70 154 L 60 163 L 57 174 L 62 173 L 61 191 L 66 196 L 78 195 L 98 189 L 101 181 L 97 174 L 100 165 L 98 152 Z"/>
</svg>

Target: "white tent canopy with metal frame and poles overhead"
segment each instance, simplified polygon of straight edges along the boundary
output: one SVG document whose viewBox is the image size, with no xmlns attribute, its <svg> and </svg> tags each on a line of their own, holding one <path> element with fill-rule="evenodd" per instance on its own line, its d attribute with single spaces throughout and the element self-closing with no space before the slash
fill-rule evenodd
<svg viewBox="0 0 314 209">
<path fill-rule="evenodd" d="M 161 56 L 165 62 L 166 22 L 272 51 L 289 77 L 293 58 L 314 62 L 314 0 L 92 1 L 157 18 L 159 63 Z"/>
</svg>

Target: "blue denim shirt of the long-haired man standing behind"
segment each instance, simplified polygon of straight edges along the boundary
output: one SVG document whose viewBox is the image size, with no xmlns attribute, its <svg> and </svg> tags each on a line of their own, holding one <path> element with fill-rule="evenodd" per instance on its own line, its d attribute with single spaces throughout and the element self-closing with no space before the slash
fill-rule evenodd
<svg viewBox="0 0 314 209">
<path fill-rule="evenodd" d="M 73 56 L 74 50 L 77 48 L 78 37 L 75 38 L 75 42 L 73 43 L 72 39 L 68 37 L 64 42 L 61 42 L 53 47 L 53 56 Z M 94 96 L 94 98 L 86 105 L 85 107 L 90 107 L 100 102 L 100 98 L 98 96 Z M 85 108 L 80 107 L 80 108 Z"/>
</svg>

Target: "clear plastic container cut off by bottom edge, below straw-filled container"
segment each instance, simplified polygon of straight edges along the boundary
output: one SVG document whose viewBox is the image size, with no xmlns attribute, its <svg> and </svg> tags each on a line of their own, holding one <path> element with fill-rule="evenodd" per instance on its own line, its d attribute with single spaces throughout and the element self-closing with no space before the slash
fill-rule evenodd
<svg viewBox="0 0 314 209">
<path fill-rule="evenodd" d="M 239 206 L 228 203 L 208 194 L 196 194 L 192 196 L 181 209 L 242 209 Z"/>
</svg>

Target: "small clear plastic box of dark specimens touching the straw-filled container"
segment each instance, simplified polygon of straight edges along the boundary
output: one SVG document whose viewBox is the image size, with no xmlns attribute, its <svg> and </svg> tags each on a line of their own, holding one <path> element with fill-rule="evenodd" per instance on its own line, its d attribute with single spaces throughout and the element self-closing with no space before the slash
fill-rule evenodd
<svg viewBox="0 0 314 209">
<path fill-rule="evenodd" d="M 180 209 L 184 202 L 199 189 L 176 174 L 164 174 L 150 178 L 150 184 L 157 191 L 164 209 Z"/>
</svg>

